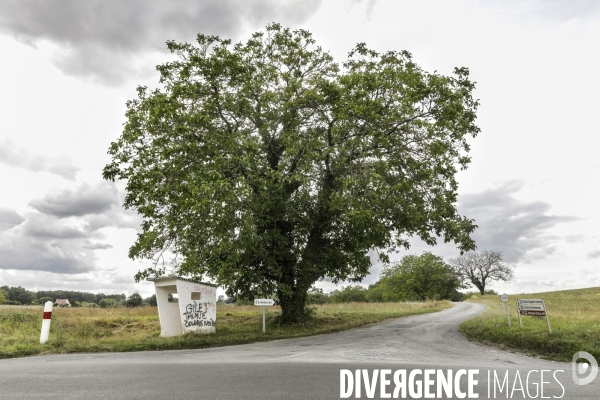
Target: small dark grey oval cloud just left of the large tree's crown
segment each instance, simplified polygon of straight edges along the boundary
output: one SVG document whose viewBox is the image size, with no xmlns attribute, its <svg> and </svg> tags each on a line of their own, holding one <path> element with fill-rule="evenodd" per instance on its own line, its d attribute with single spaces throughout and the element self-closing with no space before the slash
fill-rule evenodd
<svg viewBox="0 0 600 400">
<path fill-rule="evenodd" d="M 117 187 L 111 182 L 83 184 L 75 190 L 48 193 L 42 199 L 29 202 L 39 212 L 58 218 L 101 214 L 118 204 Z"/>
</svg>

